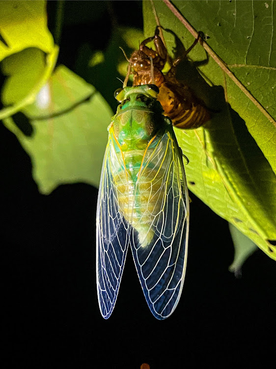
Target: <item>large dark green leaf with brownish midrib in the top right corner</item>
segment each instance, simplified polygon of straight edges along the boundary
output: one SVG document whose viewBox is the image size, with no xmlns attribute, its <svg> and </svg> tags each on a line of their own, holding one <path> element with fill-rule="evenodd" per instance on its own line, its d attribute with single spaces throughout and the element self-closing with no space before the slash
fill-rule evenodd
<svg viewBox="0 0 276 369">
<path fill-rule="evenodd" d="M 155 5 L 162 11 L 166 8 L 163 2 Z M 260 111 L 226 76 L 228 102 L 246 122 L 248 131 L 276 172 L 276 50 L 273 32 L 276 16 L 273 1 L 177 1 L 175 5 L 194 29 L 204 31 L 209 46 L 264 108 Z M 165 13 L 161 13 L 161 24 L 162 15 Z M 171 17 L 176 19 L 166 9 L 166 24 Z M 172 30 L 183 28 L 182 24 L 174 23 Z M 178 35 L 188 45 L 193 42 L 185 27 Z M 193 60 L 197 60 L 197 52 L 191 53 Z M 204 74 L 212 76 L 214 84 L 223 85 L 222 71 L 211 58 L 204 67 Z M 264 114 L 270 115 L 270 120 Z"/>
</svg>

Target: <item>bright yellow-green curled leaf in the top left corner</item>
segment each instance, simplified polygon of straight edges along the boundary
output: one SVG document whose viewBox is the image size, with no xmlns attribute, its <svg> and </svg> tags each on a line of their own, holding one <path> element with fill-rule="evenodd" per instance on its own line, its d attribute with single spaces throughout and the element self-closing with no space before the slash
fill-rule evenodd
<svg viewBox="0 0 276 369">
<path fill-rule="evenodd" d="M 7 76 L 0 119 L 34 101 L 51 75 L 58 53 L 47 28 L 46 1 L 1 1 L 0 62 Z"/>
</svg>

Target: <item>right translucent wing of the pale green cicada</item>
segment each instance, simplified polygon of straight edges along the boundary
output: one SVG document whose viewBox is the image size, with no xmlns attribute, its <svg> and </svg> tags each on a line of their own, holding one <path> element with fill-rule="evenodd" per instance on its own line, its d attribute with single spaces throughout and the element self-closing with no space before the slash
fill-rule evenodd
<svg viewBox="0 0 276 369">
<path fill-rule="evenodd" d="M 148 306 L 166 319 L 181 295 L 187 262 L 189 196 L 181 151 L 173 132 L 148 149 L 136 186 L 142 215 L 131 247 Z"/>
</svg>

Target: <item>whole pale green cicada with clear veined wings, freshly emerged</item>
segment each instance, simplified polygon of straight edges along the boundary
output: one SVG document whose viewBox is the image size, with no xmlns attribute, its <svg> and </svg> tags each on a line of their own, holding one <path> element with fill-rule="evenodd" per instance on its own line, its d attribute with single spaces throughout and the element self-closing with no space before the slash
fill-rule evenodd
<svg viewBox="0 0 276 369">
<path fill-rule="evenodd" d="M 97 290 L 101 313 L 114 308 L 128 247 L 157 319 L 181 295 L 188 247 L 189 196 L 171 120 L 155 85 L 125 87 L 108 128 L 97 204 Z"/>
</svg>

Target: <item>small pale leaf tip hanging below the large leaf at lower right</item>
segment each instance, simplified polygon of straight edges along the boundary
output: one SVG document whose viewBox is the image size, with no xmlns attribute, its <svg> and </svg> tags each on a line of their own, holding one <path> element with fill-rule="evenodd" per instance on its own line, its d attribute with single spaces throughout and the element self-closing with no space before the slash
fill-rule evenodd
<svg viewBox="0 0 276 369">
<path fill-rule="evenodd" d="M 242 265 L 258 247 L 233 224 L 229 223 L 229 229 L 235 247 L 235 256 L 233 263 L 229 266 L 229 271 L 233 272 L 236 277 L 239 277 L 241 276 Z"/>
</svg>

